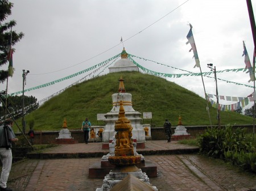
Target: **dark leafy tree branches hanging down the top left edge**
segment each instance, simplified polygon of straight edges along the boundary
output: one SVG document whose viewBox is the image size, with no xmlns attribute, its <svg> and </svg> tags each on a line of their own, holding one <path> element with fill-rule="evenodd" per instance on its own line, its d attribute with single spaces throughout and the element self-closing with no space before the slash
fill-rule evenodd
<svg viewBox="0 0 256 191">
<path fill-rule="evenodd" d="M 24 36 L 24 33 L 22 32 L 16 33 L 15 31 L 11 31 L 11 28 L 16 26 L 15 20 L 10 20 L 10 22 L 3 23 L 7 16 L 11 15 L 12 7 L 13 3 L 9 2 L 8 0 L 0 0 L 0 66 L 3 66 L 9 62 L 7 55 L 10 39 L 12 47 Z M 14 52 L 14 49 L 12 48 L 11 51 Z M 8 77 L 8 70 L 0 70 L 0 82 L 5 82 Z"/>
</svg>

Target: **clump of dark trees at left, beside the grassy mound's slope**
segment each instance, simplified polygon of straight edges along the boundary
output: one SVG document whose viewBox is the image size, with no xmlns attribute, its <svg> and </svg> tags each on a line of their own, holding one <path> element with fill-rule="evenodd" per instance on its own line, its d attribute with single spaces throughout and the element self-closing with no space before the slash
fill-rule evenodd
<svg viewBox="0 0 256 191">
<path fill-rule="evenodd" d="M 2 96 L 2 100 L 5 100 L 4 96 Z M 39 107 L 39 103 L 36 101 L 37 99 L 34 96 L 24 95 L 24 114 L 31 113 Z M 9 96 L 7 99 L 7 108 L 15 119 L 22 117 L 22 104 L 23 96 Z M 2 116 L 5 116 L 5 108 L 3 106 L 0 107 L 0 117 Z"/>
</svg>

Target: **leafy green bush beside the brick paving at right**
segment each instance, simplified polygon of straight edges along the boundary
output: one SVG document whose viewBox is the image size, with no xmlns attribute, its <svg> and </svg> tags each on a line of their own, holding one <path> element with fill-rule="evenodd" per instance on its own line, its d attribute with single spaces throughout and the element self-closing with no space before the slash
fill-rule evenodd
<svg viewBox="0 0 256 191">
<path fill-rule="evenodd" d="M 256 153 L 253 143 L 246 137 L 246 129 L 208 128 L 199 139 L 200 152 L 256 172 Z"/>
</svg>

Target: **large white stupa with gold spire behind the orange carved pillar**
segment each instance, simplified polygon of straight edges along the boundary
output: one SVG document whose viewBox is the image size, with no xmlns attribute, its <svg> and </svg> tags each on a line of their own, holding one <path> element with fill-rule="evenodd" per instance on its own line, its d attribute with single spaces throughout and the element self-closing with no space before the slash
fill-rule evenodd
<svg viewBox="0 0 256 191">
<path fill-rule="evenodd" d="M 143 148 L 144 142 L 146 141 L 145 138 L 145 131 L 142 126 L 142 118 L 141 113 L 135 111 L 133 109 L 133 104 L 131 101 L 132 95 L 126 93 L 125 85 L 123 83 L 122 77 L 119 79 L 119 89 L 118 93 L 112 95 L 112 110 L 105 114 L 105 127 L 104 131 L 102 132 L 103 142 L 109 143 L 109 140 L 112 140 L 115 132 L 114 132 L 114 125 L 115 121 L 118 119 L 118 112 L 119 112 L 119 101 L 122 100 L 123 108 L 125 108 L 126 117 L 130 120 L 131 126 L 133 126 L 133 139 L 137 140 L 137 148 Z"/>
</svg>

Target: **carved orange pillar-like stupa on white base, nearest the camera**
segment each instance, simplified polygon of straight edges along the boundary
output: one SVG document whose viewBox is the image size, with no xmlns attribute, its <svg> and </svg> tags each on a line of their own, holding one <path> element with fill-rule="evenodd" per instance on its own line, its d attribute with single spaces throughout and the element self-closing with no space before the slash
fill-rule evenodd
<svg viewBox="0 0 256 191">
<path fill-rule="evenodd" d="M 114 130 L 116 145 L 115 155 L 109 156 L 108 160 L 115 168 L 105 176 L 101 188 L 96 191 L 108 191 L 117 185 L 120 181 L 125 179 L 128 175 L 137 177 L 140 181 L 150 185 L 146 173 L 142 172 L 135 164 L 141 163 L 141 155 L 134 154 L 133 148 L 133 127 L 130 120 L 125 117 L 125 109 L 122 100 L 119 101 L 118 120 L 115 121 Z M 152 190 L 158 190 L 155 186 L 151 186 Z"/>
</svg>

